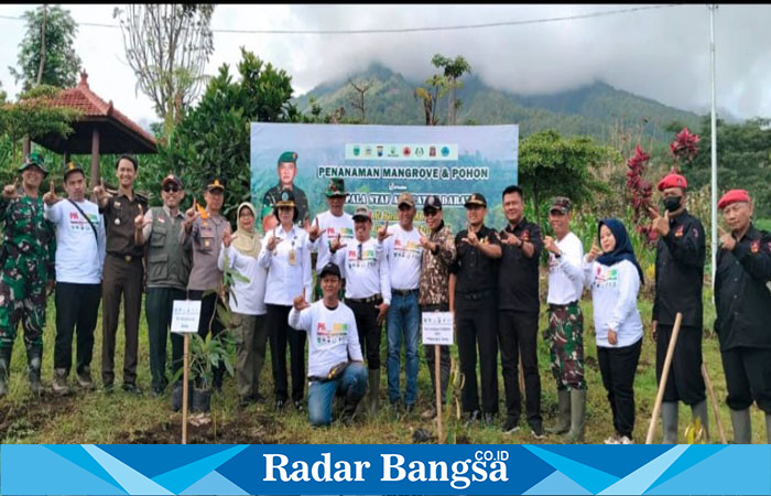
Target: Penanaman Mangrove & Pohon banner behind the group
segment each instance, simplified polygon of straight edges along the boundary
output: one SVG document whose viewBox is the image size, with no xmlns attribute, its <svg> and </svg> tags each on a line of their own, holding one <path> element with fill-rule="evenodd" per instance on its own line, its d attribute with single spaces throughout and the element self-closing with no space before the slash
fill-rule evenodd
<svg viewBox="0 0 771 496">
<path fill-rule="evenodd" d="M 466 225 L 466 198 L 478 192 L 488 202 L 486 224 L 502 226 L 501 194 L 507 185 L 517 184 L 518 141 L 518 126 L 252 122 L 251 195 L 262 216 L 272 213 L 265 196 L 280 183 L 279 157 L 291 151 L 296 153 L 292 187 L 307 198 L 311 220 L 328 209 L 324 193 L 329 180 L 341 177 L 350 193 L 346 212 L 367 205 L 374 223 L 398 222 L 397 198 L 409 191 L 415 197 L 419 225 L 426 196 L 436 195 L 445 222 L 457 233 Z"/>
</svg>

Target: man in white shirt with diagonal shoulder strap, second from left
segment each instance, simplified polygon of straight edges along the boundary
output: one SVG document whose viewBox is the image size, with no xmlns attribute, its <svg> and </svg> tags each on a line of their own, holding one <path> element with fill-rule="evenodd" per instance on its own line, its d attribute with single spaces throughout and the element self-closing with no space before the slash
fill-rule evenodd
<svg viewBox="0 0 771 496">
<path fill-rule="evenodd" d="M 86 200 L 86 173 L 74 162 L 64 169 L 67 200 L 56 196 L 54 182 L 43 195 L 45 218 L 56 226 L 56 345 L 53 389 L 69 391 L 73 335 L 77 327 L 75 377 L 85 389 L 94 387 L 91 356 L 105 263 L 105 223 L 99 206 Z"/>
</svg>

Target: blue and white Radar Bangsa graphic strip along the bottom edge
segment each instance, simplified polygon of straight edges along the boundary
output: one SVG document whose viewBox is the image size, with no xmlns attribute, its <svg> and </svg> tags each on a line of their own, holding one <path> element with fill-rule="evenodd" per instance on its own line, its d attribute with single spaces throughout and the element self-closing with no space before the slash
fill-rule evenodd
<svg viewBox="0 0 771 496">
<path fill-rule="evenodd" d="M 0 493 L 771 495 L 771 446 L 3 444 Z"/>
</svg>

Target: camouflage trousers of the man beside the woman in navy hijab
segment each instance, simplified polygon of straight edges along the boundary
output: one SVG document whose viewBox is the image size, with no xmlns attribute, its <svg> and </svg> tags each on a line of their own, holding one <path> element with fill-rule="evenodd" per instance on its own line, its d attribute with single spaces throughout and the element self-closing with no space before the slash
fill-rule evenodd
<svg viewBox="0 0 771 496">
<path fill-rule="evenodd" d="M 578 303 L 549 306 L 552 374 L 558 390 L 586 389 L 584 380 L 584 315 Z"/>
</svg>

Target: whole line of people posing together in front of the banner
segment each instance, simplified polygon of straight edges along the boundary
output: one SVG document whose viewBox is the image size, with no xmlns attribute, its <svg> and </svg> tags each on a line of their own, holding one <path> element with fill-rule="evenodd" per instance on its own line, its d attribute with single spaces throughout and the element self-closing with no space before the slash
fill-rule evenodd
<svg viewBox="0 0 771 496">
<path fill-rule="evenodd" d="M 4 186 L 0 198 L 3 224 L 0 280 L 0 397 L 7 393 L 10 357 L 21 321 L 28 352 L 29 378 L 40 392 L 42 332 L 46 295 L 55 288 L 56 345 L 53 390 L 66 393 L 72 368 L 73 336 L 77 334 L 75 377 L 93 388 L 90 374 L 94 331 L 102 299 L 101 385 L 115 384 L 116 332 L 123 300 L 126 351 L 122 389 L 139 393 L 137 348 L 143 288 L 149 332 L 152 392 L 169 385 L 166 342 L 175 300 L 202 300 L 199 334 L 217 336 L 225 325 L 217 312 L 222 301 L 222 273 L 235 270 L 227 295 L 237 344 L 237 389 L 242 405 L 262 402 L 260 373 L 270 342 L 273 400 L 281 409 L 290 398 L 307 409 L 313 425 L 333 420 L 333 400 L 341 398 L 341 417 L 357 411 L 377 414 L 383 323 L 388 343 L 387 397 L 394 411 L 411 413 L 417 403 L 421 313 L 453 312 L 464 376 L 461 408 L 467 422 L 491 424 L 499 407 L 498 353 L 506 392 L 502 430 L 520 429 L 522 396 L 532 434 L 565 434 L 584 440 L 587 382 L 585 379 L 584 316 L 579 305 L 585 288 L 591 292 L 597 358 L 612 412 L 612 433 L 606 443 L 633 442 L 634 376 L 643 338 L 637 299 L 640 288 L 654 284 L 650 335 L 656 343 L 660 377 L 673 333 L 682 314 L 680 336 L 667 376 L 662 423 L 664 443 L 677 442 L 678 402 L 689 406 L 708 436 L 705 382 L 702 376 L 703 278 L 705 233 L 686 209 L 687 183 L 670 173 L 659 183 L 664 213 L 651 207 L 659 235 L 655 280 L 645 281 L 623 224 L 598 223 L 597 238 L 585 254 L 571 231 L 572 203 L 553 198 L 543 236 L 524 215 L 524 195 L 517 185 L 502 192 L 507 225 L 485 224 L 487 200 L 468 197 L 466 229 L 454 235 L 443 220 L 441 197 L 427 196 L 421 206 L 402 193 L 398 224 L 384 223 L 372 233 L 372 213 L 359 206 L 344 211 L 348 193 L 341 179 L 326 190 L 328 211 L 310 220 L 304 193 L 292 187 L 297 154 L 279 158 L 279 187 L 269 191 L 270 208 L 260 217 L 250 202 L 237 209 L 237 229 L 221 215 L 226 181 L 214 176 L 204 187 L 205 207 L 194 200 L 180 209 L 185 192 L 174 174 L 161 186 L 163 205 L 148 208 L 133 190 L 138 162 L 122 155 L 116 163 L 118 190 L 100 181 L 86 200 L 86 176 L 76 164 L 63 173 L 67 198 L 56 195 L 54 181 L 41 196 L 47 175 L 35 153 L 20 168 L 22 183 Z M 284 181 L 282 171 L 290 171 Z M 273 191 L 275 190 L 275 191 Z M 427 233 L 414 224 L 422 207 Z M 765 412 L 771 436 L 771 236 L 753 227 L 752 203 L 742 190 L 726 193 L 718 204 L 729 233 L 721 233 L 717 256 L 715 330 L 720 342 L 727 403 L 735 440 L 751 442 L 749 407 Z M 254 226 L 262 222 L 264 236 Z M 539 263 L 549 258 L 549 343 L 556 384 L 556 424 L 544 429 L 537 364 L 540 313 Z M 316 283 L 312 274 L 316 254 Z M 55 282 L 54 282 L 55 281 Z M 172 371 L 182 363 L 182 338 L 171 334 Z M 307 373 L 305 366 L 307 342 Z M 405 387 L 400 385 L 402 345 Z M 289 347 L 291 389 L 287 377 Z M 449 346 L 426 347 L 434 395 L 446 399 Z M 434 363 L 438 356 L 438 381 Z M 477 363 L 479 367 L 477 367 Z M 524 391 L 520 390 L 519 366 Z M 479 368 L 480 380 L 477 380 Z M 214 387 L 221 388 L 225 367 L 215 368 Z M 181 385 L 177 384 L 177 387 Z M 291 392 L 291 395 L 290 395 Z M 366 408 L 359 408 L 367 396 Z M 481 401 L 480 401 L 481 399 Z M 433 401 L 432 401 L 433 403 Z M 436 416 L 435 407 L 422 413 Z"/>
</svg>

